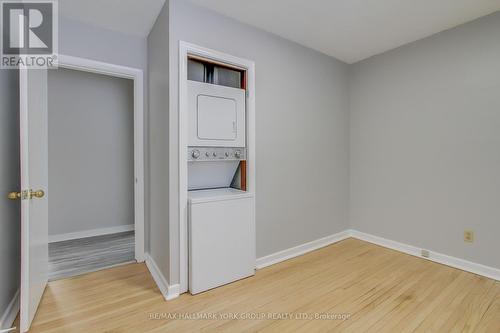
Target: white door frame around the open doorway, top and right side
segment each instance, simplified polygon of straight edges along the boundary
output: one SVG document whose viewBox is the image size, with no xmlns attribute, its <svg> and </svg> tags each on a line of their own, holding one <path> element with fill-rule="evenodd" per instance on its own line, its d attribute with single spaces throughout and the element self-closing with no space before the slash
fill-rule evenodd
<svg viewBox="0 0 500 333">
<path fill-rule="evenodd" d="M 130 79 L 134 82 L 134 229 L 135 260 L 143 262 L 145 246 L 144 202 L 144 73 L 142 69 L 86 58 L 58 55 L 59 68 Z"/>
</svg>

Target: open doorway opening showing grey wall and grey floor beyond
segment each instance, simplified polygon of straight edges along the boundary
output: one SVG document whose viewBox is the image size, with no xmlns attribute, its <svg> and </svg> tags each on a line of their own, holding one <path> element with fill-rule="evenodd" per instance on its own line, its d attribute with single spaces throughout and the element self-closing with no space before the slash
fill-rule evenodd
<svg viewBox="0 0 500 333">
<path fill-rule="evenodd" d="M 135 259 L 134 81 L 48 71 L 49 280 Z"/>
</svg>

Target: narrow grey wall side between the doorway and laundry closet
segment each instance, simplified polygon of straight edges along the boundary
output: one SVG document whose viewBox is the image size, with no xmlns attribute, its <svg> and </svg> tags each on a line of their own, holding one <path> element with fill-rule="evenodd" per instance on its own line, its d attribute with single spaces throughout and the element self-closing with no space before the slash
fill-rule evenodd
<svg viewBox="0 0 500 333">
<path fill-rule="evenodd" d="M 170 274 L 169 242 L 169 6 L 168 1 L 148 37 L 149 75 L 149 252 L 163 275 Z M 169 144 L 170 143 L 170 144 Z"/>
</svg>

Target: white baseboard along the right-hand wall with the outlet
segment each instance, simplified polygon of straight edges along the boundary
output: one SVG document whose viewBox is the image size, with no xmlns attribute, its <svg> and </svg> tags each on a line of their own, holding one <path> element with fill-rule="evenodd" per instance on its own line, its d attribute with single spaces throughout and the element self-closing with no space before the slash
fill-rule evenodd
<svg viewBox="0 0 500 333">
<path fill-rule="evenodd" d="M 399 243 L 390 239 L 382 238 L 379 236 L 367 234 L 357 230 L 349 230 L 351 237 L 357 238 L 369 243 L 377 244 L 383 247 L 387 247 L 392 250 L 410 254 L 422 259 L 427 259 L 434 261 L 443 265 L 447 265 L 453 268 L 458 268 L 463 271 L 485 276 L 490 279 L 500 281 L 500 269 L 485 266 L 482 264 L 477 264 L 475 262 L 467 261 L 464 259 L 452 257 L 439 252 L 429 251 L 429 258 L 421 256 L 422 248 L 413 245 L 408 245 L 404 243 Z"/>
</svg>

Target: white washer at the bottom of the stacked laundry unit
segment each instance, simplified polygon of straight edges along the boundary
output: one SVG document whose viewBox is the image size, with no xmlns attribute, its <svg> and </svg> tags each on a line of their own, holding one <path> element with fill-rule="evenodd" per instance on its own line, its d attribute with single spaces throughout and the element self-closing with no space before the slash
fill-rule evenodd
<svg viewBox="0 0 500 333">
<path fill-rule="evenodd" d="M 254 195 L 233 188 L 188 192 L 189 291 L 255 274 Z"/>
</svg>

